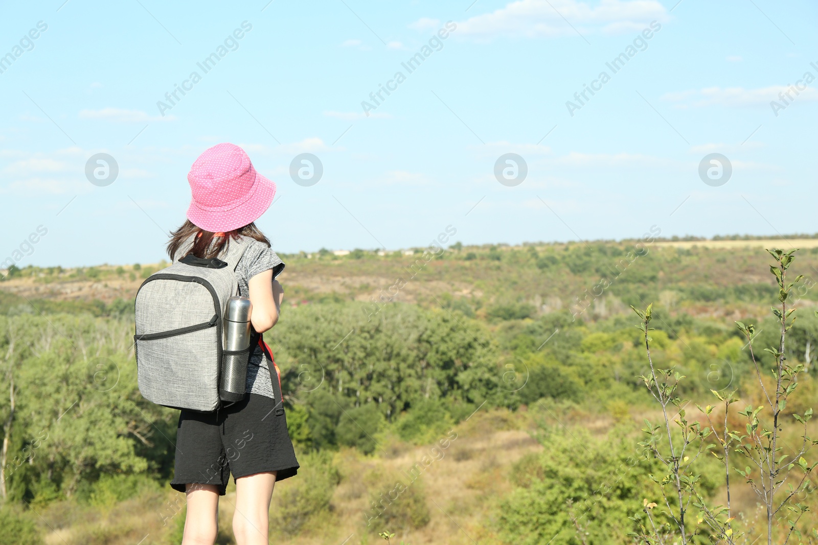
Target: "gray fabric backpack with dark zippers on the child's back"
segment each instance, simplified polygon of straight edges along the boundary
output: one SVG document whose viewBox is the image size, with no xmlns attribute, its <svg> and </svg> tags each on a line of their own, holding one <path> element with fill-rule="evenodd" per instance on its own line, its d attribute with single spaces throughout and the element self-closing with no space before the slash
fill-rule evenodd
<svg viewBox="0 0 818 545">
<path fill-rule="evenodd" d="M 238 295 L 236 265 L 251 239 L 229 239 L 218 258 L 186 255 L 182 243 L 173 264 L 149 276 L 136 297 L 137 380 L 142 396 L 173 409 L 218 409 L 222 323 L 227 299 Z"/>
</svg>

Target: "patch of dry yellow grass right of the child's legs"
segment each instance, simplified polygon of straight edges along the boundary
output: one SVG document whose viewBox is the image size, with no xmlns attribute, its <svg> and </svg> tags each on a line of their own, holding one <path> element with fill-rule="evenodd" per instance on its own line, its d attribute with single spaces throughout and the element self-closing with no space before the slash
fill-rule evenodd
<svg viewBox="0 0 818 545">
<path fill-rule="evenodd" d="M 478 538 L 481 543 L 489 543 L 488 516 L 495 498 L 510 490 L 507 473 L 511 465 L 525 453 L 542 449 L 529 436 L 525 429 L 528 425 L 524 414 L 495 410 L 477 413 L 456 426 L 456 439 L 446 449 L 440 444 L 409 447 L 390 458 L 366 458 L 353 450 L 343 450 L 335 457 L 343 478 L 332 498 L 332 511 L 326 520 L 329 524 L 308 525 L 311 530 L 305 534 L 289 541 L 277 536 L 276 542 L 317 545 L 342 543 L 349 538 L 348 545 L 378 543 L 381 540 L 376 534 L 389 529 L 397 534 L 393 543 L 402 540 L 411 545 L 460 545 L 474 543 L 472 539 Z M 372 489 L 377 489 L 373 476 L 402 476 L 408 484 L 411 478 L 407 475 L 411 475 L 413 467 L 423 468 L 416 470 L 419 476 L 409 486 L 424 489 L 429 524 L 420 529 L 389 528 L 375 519 L 367 528 L 366 514 L 372 512 L 368 500 Z M 391 488 L 392 481 L 388 482 Z M 281 487 L 287 485 L 287 480 L 281 482 Z"/>
</svg>

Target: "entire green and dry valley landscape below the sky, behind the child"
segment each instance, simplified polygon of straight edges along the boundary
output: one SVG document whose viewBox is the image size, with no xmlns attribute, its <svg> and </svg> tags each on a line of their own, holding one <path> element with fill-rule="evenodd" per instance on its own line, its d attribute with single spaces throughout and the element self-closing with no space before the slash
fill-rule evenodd
<svg viewBox="0 0 818 545">
<path fill-rule="evenodd" d="M 792 455 L 792 415 L 818 395 L 818 239 L 780 242 L 802 248 L 789 278 L 805 275 L 784 351 L 806 369 L 782 426 Z M 778 288 L 764 248 L 775 245 L 282 255 L 285 310 L 266 338 L 302 469 L 276 485 L 273 539 L 371 545 L 389 530 L 407 545 L 632 543 L 628 517 L 660 497 L 649 476 L 665 469 L 637 445 L 644 419 L 663 413 L 638 378 L 649 366 L 630 306 L 654 303 L 653 362 L 679 373 L 687 418 L 708 426 L 697 405 L 735 391 L 741 404 L 715 415 L 743 427 L 739 409 L 764 398 L 733 322 L 756 325 L 755 358 L 771 366 L 762 348 L 778 342 Z M 26 267 L 0 281 L 0 524 L 27 536 L 10 543 L 181 540 L 184 500 L 168 486 L 178 412 L 142 399 L 133 353 L 133 295 L 164 265 Z M 697 464 L 703 498 L 723 503 L 723 468 Z M 372 511 L 397 483 L 406 490 Z M 746 533 L 736 543 L 751 543 L 762 532 L 757 498 L 744 480 L 733 487 L 735 529 Z M 806 531 L 818 502 L 802 501 Z M 218 543 L 233 543 L 234 502 L 231 484 Z"/>
</svg>

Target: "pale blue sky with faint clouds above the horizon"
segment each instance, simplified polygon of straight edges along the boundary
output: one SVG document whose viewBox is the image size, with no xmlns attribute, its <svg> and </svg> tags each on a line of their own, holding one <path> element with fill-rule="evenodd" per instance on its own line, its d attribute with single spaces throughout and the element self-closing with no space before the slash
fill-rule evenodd
<svg viewBox="0 0 818 545">
<path fill-rule="evenodd" d="M 7 5 L 0 260 L 38 226 L 18 266 L 159 260 L 191 163 L 222 141 L 276 182 L 258 225 L 280 252 L 425 246 L 447 226 L 463 243 L 818 231 L 814 2 L 470 2 Z M 86 177 L 99 153 L 110 185 Z M 302 153 L 314 185 L 290 177 Z M 518 185 L 494 174 L 509 153 Z M 699 176 L 712 153 L 721 185 Z"/>
</svg>

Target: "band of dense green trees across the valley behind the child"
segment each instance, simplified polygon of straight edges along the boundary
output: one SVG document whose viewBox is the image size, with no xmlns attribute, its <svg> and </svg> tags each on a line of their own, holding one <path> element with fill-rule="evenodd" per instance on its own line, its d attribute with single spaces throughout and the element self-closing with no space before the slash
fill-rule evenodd
<svg viewBox="0 0 818 545">
<path fill-rule="evenodd" d="M 751 364 L 731 328 L 658 315 L 654 360 L 696 377 L 685 395 L 726 387 L 713 380 L 740 384 Z M 490 328 L 458 310 L 393 304 L 370 315 L 359 303 L 332 303 L 285 310 L 267 341 L 299 448 L 371 453 L 378 434 L 423 442 L 483 404 L 643 403 L 635 377 L 645 362 L 628 318 L 585 324 L 555 313 Z M 758 342 L 773 340 L 775 328 L 759 330 Z M 139 394 L 132 335 L 123 318 L 0 316 L 8 498 L 90 494 L 105 474 L 169 478 L 178 413 Z M 790 357 L 814 373 L 818 319 L 798 320 L 791 339 Z"/>
</svg>

